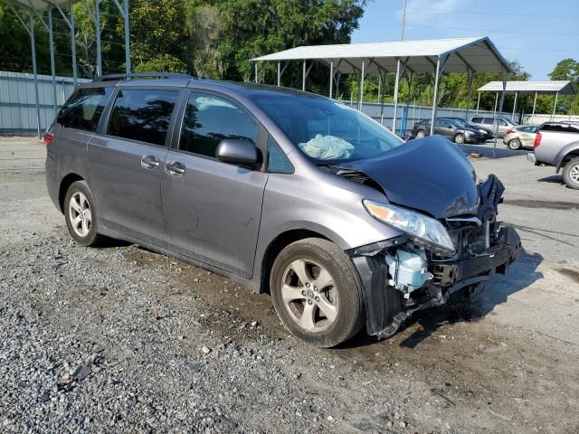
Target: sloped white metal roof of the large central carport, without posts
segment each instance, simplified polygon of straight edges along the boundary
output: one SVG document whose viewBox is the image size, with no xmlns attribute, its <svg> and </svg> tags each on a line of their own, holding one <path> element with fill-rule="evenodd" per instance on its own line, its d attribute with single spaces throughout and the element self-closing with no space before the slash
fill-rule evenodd
<svg viewBox="0 0 579 434">
<path fill-rule="evenodd" d="M 308 45 L 274 52 L 252 61 L 307 61 L 329 64 L 342 73 L 395 72 L 397 61 L 405 61 L 408 71 L 435 72 L 436 62 L 448 61 L 445 72 L 510 72 L 508 61 L 488 37 L 432 39 L 422 41 Z"/>
</svg>

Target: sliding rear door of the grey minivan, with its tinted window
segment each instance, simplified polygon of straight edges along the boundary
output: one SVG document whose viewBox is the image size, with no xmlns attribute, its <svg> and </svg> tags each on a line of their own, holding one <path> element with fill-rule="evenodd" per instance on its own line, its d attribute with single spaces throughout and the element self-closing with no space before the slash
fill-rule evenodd
<svg viewBox="0 0 579 434">
<path fill-rule="evenodd" d="M 88 153 L 103 224 L 161 247 L 161 169 L 179 96 L 176 89 L 119 89 Z"/>
</svg>

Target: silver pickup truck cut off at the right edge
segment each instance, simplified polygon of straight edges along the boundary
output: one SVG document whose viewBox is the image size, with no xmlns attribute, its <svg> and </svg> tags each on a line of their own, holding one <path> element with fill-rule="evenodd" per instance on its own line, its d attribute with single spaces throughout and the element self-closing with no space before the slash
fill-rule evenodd
<svg viewBox="0 0 579 434">
<path fill-rule="evenodd" d="M 527 159 L 535 165 L 553 165 L 555 173 L 563 168 L 565 184 L 579 189 L 579 123 L 546 122 L 539 127 L 533 152 Z"/>
</svg>

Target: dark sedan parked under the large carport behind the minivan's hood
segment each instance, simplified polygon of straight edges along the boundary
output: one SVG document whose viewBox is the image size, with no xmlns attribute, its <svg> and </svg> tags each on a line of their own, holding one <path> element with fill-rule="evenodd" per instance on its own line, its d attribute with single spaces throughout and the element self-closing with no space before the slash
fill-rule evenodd
<svg viewBox="0 0 579 434">
<path fill-rule="evenodd" d="M 412 137 L 422 138 L 430 133 L 431 120 L 424 119 L 414 124 Z M 454 143 L 482 143 L 493 137 L 489 129 L 468 124 L 462 118 L 434 119 L 434 134 L 448 137 Z"/>
</svg>

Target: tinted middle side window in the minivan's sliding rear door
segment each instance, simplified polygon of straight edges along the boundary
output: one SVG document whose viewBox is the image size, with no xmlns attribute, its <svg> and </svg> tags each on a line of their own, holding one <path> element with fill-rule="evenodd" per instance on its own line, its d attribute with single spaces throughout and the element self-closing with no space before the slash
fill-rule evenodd
<svg viewBox="0 0 579 434">
<path fill-rule="evenodd" d="M 107 134 L 164 146 L 178 94 L 176 90 L 120 90 Z"/>
</svg>

